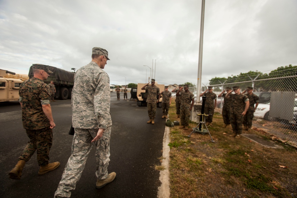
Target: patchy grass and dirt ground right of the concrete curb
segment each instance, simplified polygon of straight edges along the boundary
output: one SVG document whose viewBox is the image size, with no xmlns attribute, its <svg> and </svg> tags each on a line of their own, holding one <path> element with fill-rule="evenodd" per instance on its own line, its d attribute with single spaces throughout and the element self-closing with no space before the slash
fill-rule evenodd
<svg viewBox="0 0 297 198">
<path fill-rule="evenodd" d="M 175 104 L 169 118 L 178 121 Z M 190 123 L 190 127 L 196 127 Z M 214 115 L 209 134 L 191 129 L 170 129 L 170 197 L 297 197 L 297 150 L 286 142 L 273 141 L 281 148 L 266 148 L 245 137 L 234 138 L 231 126 Z M 266 141 L 271 135 L 257 128 Z"/>
</svg>

